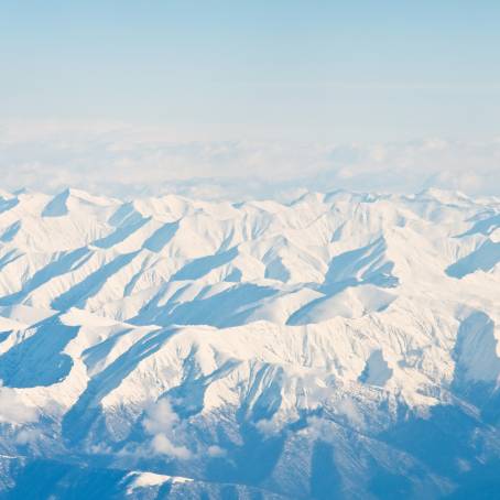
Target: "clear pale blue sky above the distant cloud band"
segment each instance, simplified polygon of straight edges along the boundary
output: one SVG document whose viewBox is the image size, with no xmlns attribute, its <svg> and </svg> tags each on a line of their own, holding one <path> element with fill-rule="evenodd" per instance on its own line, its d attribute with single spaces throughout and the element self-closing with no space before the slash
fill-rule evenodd
<svg viewBox="0 0 500 500">
<path fill-rule="evenodd" d="M 195 137 L 404 141 L 500 132 L 499 1 L 0 3 L 2 121 Z"/>
</svg>

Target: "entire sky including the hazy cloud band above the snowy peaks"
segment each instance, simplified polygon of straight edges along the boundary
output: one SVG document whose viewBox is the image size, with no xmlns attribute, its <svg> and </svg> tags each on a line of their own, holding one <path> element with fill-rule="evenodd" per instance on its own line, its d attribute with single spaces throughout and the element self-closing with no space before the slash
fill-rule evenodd
<svg viewBox="0 0 500 500">
<path fill-rule="evenodd" d="M 0 6 L 1 187 L 496 195 L 500 7 Z"/>
</svg>

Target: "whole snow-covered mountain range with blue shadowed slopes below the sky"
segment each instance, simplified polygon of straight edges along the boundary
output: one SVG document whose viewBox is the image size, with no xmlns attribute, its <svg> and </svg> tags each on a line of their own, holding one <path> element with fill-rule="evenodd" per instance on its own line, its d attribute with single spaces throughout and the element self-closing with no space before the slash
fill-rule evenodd
<svg viewBox="0 0 500 500">
<path fill-rule="evenodd" d="M 0 195 L 0 498 L 498 491 L 500 198 Z"/>
</svg>

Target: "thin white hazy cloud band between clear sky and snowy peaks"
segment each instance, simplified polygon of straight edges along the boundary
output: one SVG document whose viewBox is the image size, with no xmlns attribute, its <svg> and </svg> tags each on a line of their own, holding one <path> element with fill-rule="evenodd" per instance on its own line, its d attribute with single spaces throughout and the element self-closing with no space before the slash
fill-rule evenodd
<svg viewBox="0 0 500 500">
<path fill-rule="evenodd" d="M 500 138 L 391 144 L 186 140 L 117 123 L 0 128 L 2 188 L 67 186 L 131 197 L 286 197 L 301 189 L 415 193 L 426 187 L 498 195 Z"/>
</svg>

